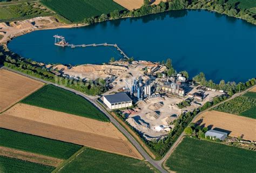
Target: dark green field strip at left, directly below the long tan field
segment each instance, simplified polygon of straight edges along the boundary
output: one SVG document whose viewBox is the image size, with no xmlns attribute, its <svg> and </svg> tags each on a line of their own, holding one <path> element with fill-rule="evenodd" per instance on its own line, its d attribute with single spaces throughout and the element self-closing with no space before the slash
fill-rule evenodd
<svg viewBox="0 0 256 173">
<path fill-rule="evenodd" d="M 0 128 L 0 146 L 67 159 L 82 146 Z M 1 172 L 1 171 L 0 171 Z"/>
</svg>

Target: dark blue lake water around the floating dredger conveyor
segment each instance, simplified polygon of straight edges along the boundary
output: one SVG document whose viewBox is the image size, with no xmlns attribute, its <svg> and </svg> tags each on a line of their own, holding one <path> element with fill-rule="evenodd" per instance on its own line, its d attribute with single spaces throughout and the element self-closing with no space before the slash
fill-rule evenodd
<svg viewBox="0 0 256 173">
<path fill-rule="evenodd" d="M 122 57 L 114 47 L 55 46 L 55 34 L 72 44 L 116 43 L 137 60 L 171 58 L 177 71 L 186 70 L 191 77 L 199 72 L 215 82 L 256 77 L 256 26 L 218 13 L 181 10 L 71 29 L 41 30 L 17 37 L 8 46 L 25 58 L 44 63 L 100 64 L 111 57 Z"/>
</svg>

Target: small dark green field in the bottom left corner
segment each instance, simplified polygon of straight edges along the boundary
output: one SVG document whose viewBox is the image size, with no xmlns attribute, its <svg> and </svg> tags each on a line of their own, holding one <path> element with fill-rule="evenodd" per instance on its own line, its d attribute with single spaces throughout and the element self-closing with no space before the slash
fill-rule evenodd
<svg viewBox="0 0 256 173">
<path fill-rule="evenodd" d="M 9 158 L 0 156 L 0 172 L 1 173 L 49 173 L 53 171 L 54 167 L 49 167 L 42 164 L 26 162 L 16 158 Z"/>
</svg>

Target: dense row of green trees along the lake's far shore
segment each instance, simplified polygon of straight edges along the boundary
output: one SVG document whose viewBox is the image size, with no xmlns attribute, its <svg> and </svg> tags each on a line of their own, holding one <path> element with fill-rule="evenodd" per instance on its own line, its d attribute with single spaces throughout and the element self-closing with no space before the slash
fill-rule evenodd
<svg viewBox="0 0 256 173">
<path fill-rule="evenodd" d="M 114 10 L 109 14 L 102 14 L 100 16 L 92 16 L 84 19 L 84 23 L 93 24 L 96 22 L 103 22 L 110 19 L 118 19 L 124 17 L 140 17 L 153 13 L 159 13 L 169 10 L 181 9 L 206 9 L 224 13 L 231 17 L 238 17 L 247 22 L 256 24 L 255 14 L 248 9 L 240 9 L 238 5 L 232 5 L 225 0 L 215 1 L 197 1 L 197 0 L 172 0 L 170 2 L 160 2 L 158 5 L 150 5 L 150 1 L 145 0 L 144 5 L 140 9 L 134 10 Z"/>
</svg>

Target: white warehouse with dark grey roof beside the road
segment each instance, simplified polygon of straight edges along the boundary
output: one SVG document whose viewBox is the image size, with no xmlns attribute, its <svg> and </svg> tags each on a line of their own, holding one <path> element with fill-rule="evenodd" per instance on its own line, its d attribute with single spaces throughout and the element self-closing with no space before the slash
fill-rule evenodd
<svg viewBox="0 0 256 173">
<path fill-rule="evenodd" d="M 132 106 L 132 99 L 124 92 L 104 95 L 103 102 L 110 109 L 120 109 Z"/>
</svg>

